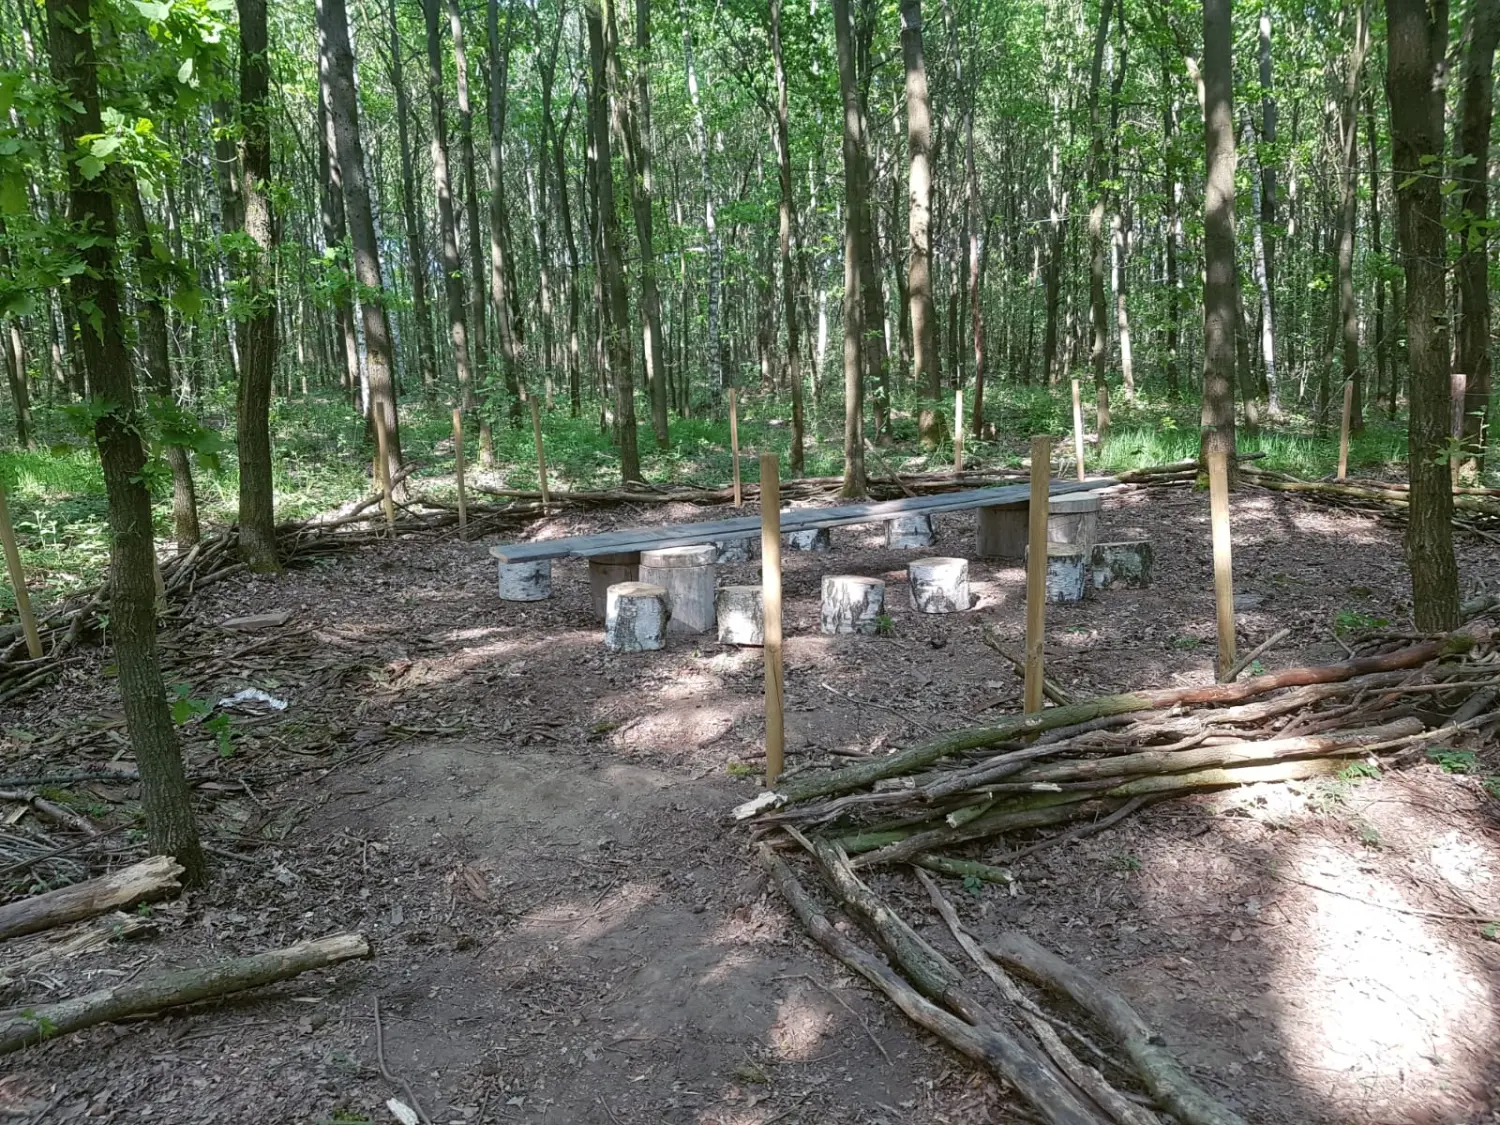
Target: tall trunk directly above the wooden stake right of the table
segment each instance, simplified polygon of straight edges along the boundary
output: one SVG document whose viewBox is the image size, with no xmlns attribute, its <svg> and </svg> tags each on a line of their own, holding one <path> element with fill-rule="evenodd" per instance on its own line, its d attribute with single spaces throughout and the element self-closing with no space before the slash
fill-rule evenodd
<svg viewBox="0 0 1500 1125">
<path fill-rule="evenodd" d="M 1230 0 L 1203 3 L 1203 434 L 1234 476 L 1234 106 Z"/>
</svg>

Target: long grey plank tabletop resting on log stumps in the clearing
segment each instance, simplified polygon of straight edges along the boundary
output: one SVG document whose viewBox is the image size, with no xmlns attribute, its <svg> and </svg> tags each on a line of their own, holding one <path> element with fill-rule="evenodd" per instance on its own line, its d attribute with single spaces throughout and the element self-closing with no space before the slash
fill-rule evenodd
<svg viewBox="0 0 1500 1125">
<path fill-rule="evenodd" d="M 1108 488 L 1112 477 L 1096 480 L 1054 480 L 1052 495 L 1066 492 L 1090 492 Z M 944 492 L 934 496 L 906 496 L 866 504 L 842 504 L 832 508 L 783 508 L 782 532 L 808 531 L 812 528 L 837 528 L 850 524 L 879 524 L 896 516 L 912 513 L 936 514 L 939 512 L 963 512 L 966 508 L 993 507 L 998 504 L 1028 504 L 1029 484 L 1005 484 L 966 492 Z M 627 550 L 657 550 L 660 548 L 686 548 L 696 543 L 714 543 L 726 538 L 747 538 L 759 534 L 759 516 L 735 519 L 710 519 L 700 524 L 668 524 L 657 528 L 622 528 L 598 536 L 573 536 L 572 538 L 548 538 L 536 543 L 496 543 L 489 549 L 501 562 L 531 562 L 543 558 L 590 558 Z"/>
</svg>

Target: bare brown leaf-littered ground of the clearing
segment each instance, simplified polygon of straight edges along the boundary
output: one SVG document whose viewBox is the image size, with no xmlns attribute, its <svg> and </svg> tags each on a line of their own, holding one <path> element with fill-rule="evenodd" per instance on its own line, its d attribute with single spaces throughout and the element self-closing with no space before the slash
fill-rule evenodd
<svg viewBox="0 0 1500 1125">
<path fill-rule="evenodd" d="M 530 534 L 714 514 L 621 508 Z M 1268 668 L 1341 658 L 1338 630 L 1406 627 L 1400 528 L 1257 489 L 1233 514 L 1245 642 L 1292 630 Z M 938 552 L 970 554 L 972 522 L 939 518 Z M 1209 682 L 1206 496 L 1125 492 L 1100 531 L 1149 537 L 1155 585 L 1050 608 L 1048 674 L 1080 696 Z M 812 946 L 728 826 L 759 789 L 759 652 L 678 636 L 606 654 L 582 562 L 555 564 L 550 600 L 504 603 L 488 546 L 400 540 L 180 608 L 166 658 L 184 693 L 290 704 L 236 711 L 230 758 L 186 728 L 189 768 L 214 776 L 201 822 L 240 858 L 154 908 L 148 939 L 18 981 L 0 1005 L 334 930 L 364 932 L 376 956 L 30 1048 L 0 1072 L 0 1118 L 394 1120 L 380 998 L 386 1062 L 434 1122 L 1034 1120 Z M 912 555 L 876 526 L 783 555 L 794 766 L 1017 710 L 981 624 L 1018 648 L 1022 568 L 972 562 L 975 608 L 932 618 L 903 590 Z M 1492 548 L 1461 542 L 1460 556 L 1468 586 L 1500 585 Z M 885 578 L 894 634 L 819 634 L 825 573 Z M 272 633 L 219 627 L 274 609 L 291 620 Z M 124 753 L 100 663 L 3 716 L 0 772 Z M 951 890 L 981 936 L 1018 927 L 1107 976 L 1257 1125 L 1500 1120 L 1500 944 L 1452 921 L 1500 916 L 1484 774 L 1500 774 L 1496 747 L 1466 772 L 1426 762 L 1172 801 L 1017 862 L 1011 891 Z M 100 819 L 135 798 L 117 782 L 64 789 Z M 934 922 L 904 876 L 874 882 Z"/>
</svg>

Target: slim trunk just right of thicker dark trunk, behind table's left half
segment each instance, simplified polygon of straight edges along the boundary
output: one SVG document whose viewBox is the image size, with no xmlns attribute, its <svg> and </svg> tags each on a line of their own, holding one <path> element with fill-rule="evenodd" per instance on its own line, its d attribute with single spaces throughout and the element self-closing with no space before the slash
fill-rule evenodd
<svg viewBox="0 0 1500 1125">
<path fill-rule="evenodd" d="M 618 57 L 615 60 L 618 69 Z M 634 102 L 624 99 L 620 120 L 626 164 L 630 168 L 630 210 L 640 244 L 640 352 L 646 363 L 646 393 L 651 399 L 651 430 L 657 448 L 670 446 L 666 418 L 666 363 L 662 358 L 662 294 L 657 286 L 656 240 L 651 230 L 651 0 L 636 0 Z M 620 76 L 624 86 L 624 76 Z"/>
</svg>

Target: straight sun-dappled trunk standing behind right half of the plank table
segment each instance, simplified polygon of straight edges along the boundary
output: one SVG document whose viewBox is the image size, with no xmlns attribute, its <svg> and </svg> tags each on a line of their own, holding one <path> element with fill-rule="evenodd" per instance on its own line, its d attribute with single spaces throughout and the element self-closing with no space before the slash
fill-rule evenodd
<svg viewBox="0 0 1500 1125">
<path fill-rule="evenodd" d="M 927 96 L 927 63 L 922 58 L 922 0 L 902 0 L 902 60 L 906 64 L 906 152 L 910 159 L 908 188 L 906 300 L 912 322 L 912 381 L 927 402 L 918 416 L 924 448 L 942 444 L 944 422 L 938 410 L 942 394 L 938 364 L 936 320 L 932 274 L 932 102 Z"/>
</svg>

